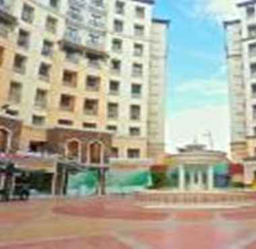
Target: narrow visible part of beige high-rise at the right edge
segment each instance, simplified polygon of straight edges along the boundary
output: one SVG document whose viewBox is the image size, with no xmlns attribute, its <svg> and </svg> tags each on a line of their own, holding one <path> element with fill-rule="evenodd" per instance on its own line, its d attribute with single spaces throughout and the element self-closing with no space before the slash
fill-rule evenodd
<svg viewBox="0 0 256 249">
<path fill-rule="evenodd" d="M 225 22 L 230 87 L 232 157 L 256 155 L 256 2 L 238 5 L 238 18 Z"/>
</svg>

